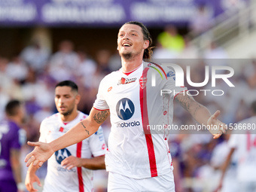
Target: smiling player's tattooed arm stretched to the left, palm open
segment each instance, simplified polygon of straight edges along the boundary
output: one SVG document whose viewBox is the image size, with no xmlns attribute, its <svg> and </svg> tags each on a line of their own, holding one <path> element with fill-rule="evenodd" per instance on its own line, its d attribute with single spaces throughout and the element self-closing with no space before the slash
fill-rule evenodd
<svg viewBox="0 0 256 192">
<path fill-rule="evenodd" d="M 35 146 L 35 149 L 26 155 L 26 166 L 29 166 L 31 163 L 33 163 L 34 166 L 37 164 L 38 166 L 42 166 L 55 151 L 87 139 L 89 136 L 93 135 L 93 133 L 96 133 L 99 126 L 104 122 L 108 115 L 109 110 L 100 111 L 92 108 L 86 119 L 81 120 L 73 126 L 71 130 L 58 139 L 53 140 L 53 142 L 28 142 L 28 145 Z"/>
</svg>

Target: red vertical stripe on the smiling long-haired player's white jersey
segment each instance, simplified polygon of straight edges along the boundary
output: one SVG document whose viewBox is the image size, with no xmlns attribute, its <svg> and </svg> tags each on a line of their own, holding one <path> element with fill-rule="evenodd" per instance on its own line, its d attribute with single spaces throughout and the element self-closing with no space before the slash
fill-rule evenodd
<svg viewBox="0 0 256 192">
<path fill-rule="evenodd" d="M 148 68 L 142 73 L 143 75 L 148 74 Z M 147 86 L 142 89 L 139 89 L 139 96 L 140 96 L 140 106 L 141 106 L 141 113 L 142 113 L 142 126 L 145 133 L 145 139 L 147 142 L 148 147 L 148 159 L 149 165 L 151 169 L 151 177 L 157 176 L 157 161 L 154 153 L 154 144 L 153 139 L 151 136 L 151 131 L 147 130 L 147 125 L 149 124 L 148 121 L 148 107 L 147 107 Z"/>
</svg>

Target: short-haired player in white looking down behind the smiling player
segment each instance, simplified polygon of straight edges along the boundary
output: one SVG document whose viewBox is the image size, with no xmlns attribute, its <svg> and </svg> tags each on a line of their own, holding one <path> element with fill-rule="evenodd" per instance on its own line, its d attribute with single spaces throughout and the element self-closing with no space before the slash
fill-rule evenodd
<svg viewBox="0 0 256 192">
<path fill-rule="evenodd" d="M 87 114 L 78 111 L 78 86 L 73 81 L 62 81 L 55 87 L 55 105 L 59 113 L 45 118 L 40 126 L 40 142 L 50 143 L 64 135 Z M 82 122 L 82 121 L 81 121 Z M 105 169 L 105 139 L 102 128 L 78 144 L 59 148 L 48 160 L 44 192 L 93 191 L 93 169 Z M 37 191 L 33 183 L 41 182 L 35 175 L 38 166 L 29 166 L 26 188 Z"/>
</svg>

